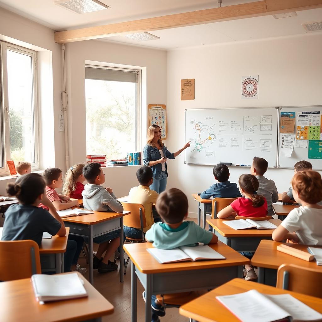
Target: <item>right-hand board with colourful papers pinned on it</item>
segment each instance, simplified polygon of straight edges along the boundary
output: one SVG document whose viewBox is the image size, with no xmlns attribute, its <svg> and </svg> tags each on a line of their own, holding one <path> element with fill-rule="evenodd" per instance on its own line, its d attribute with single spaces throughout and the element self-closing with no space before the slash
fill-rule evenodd
<svg viewBox="0 0 322 322">
<path fill-rule="evenodd" d="M 282 141 L 286 136 L 279 133 L 278 167 L 293 169 L 296 162 L 307 160 L 312 163 L 313 169 L 322 170 L 322 106 L 280 107 L 279 124 L 281 112 L 295 113 L 294 147 L 291 155 L 285 156 Z"/>
</svg>

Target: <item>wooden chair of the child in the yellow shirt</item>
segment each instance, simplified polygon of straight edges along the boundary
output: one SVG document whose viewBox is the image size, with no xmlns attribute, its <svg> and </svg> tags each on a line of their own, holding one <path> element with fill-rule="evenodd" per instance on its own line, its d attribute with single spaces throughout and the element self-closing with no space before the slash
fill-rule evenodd
<svg viewBox="0 0 322 322">
<path fill-rule="evenodd" d="M 146 242 L 143 229 L 147 227 L 147 219 L 145 217 L 144 207 L 141 204 L 130 204 L 127 202 L 121 202 L 123 205 L 123 209 L 125 211 L 130 211 L 131 213 L 127 216 L 123 217 L 123 225 L 127 227 L 140 227 L 137 229 L 141 229 L 142 238 L 135 239 L 125 235 L 125 241 L 129 243 L 139 243 Z M 126 274 L 126 269 L 128 267 L 128 262 L 130 258 L 128 257 L 125 267 L 124 274 Z"/>
</svg>

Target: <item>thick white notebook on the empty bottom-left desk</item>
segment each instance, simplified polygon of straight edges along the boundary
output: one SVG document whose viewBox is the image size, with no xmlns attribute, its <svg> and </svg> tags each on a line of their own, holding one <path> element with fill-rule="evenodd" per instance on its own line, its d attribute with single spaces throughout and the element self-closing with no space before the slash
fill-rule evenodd
<svg viewBox="0 0 322 322">
<path fill-rule="evenodd" d="M 31 277 L 31 281 L 33 291 L 39 302 L 60 301 L 88 296 L 77 273 L 64 275 L 35 274 Z"/>
</svg>

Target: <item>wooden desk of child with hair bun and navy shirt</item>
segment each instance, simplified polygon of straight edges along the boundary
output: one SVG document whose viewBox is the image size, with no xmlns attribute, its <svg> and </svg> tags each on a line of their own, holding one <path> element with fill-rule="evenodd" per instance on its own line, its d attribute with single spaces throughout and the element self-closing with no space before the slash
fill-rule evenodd
<svg viewBox="0 0 322 322">
<path fill-rule="evenodd" d="M 0 239 L 3 227 L 0 227 Z M 42 272 L 62 273 L 64 271 L 64 253 L 67 247 L 69 228 L 66 227 L 66 235 L 54 235 L 52 238 L 43 239 L 39 247 Z"/>
</svg>

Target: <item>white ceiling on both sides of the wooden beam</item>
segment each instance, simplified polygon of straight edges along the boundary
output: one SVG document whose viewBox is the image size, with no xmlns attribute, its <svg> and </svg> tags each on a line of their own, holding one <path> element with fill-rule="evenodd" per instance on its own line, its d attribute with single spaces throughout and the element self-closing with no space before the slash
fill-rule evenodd
<svg viewBox="0 0 322 322">
<path fill-rule="evenodd" d="M 48 26 L 56 31 L 144 19 L 167 14 L 217 7 L 217 0 L 100 0 L 110 8 L 98 12 L 76 14 L 54 4 L 53 0 L 0 0 L 0 7 Z M 256 0 L 223 0 L 223 6 Z M 197 5 L 196 5 L 197 3 Z M 322 8 L 298 11 L 298 16 L 275 19 L 262 16 L 212 24 L 153 31 L 159 40 L 135 42 L 124 36 L 106 41 L 130 43 L 161 49 L 249 41 L 271 37 L 306 34 L 301 23 L 322 20 Z M 315 32 L 322 33 L 322 32 Z"/>
</svg>

